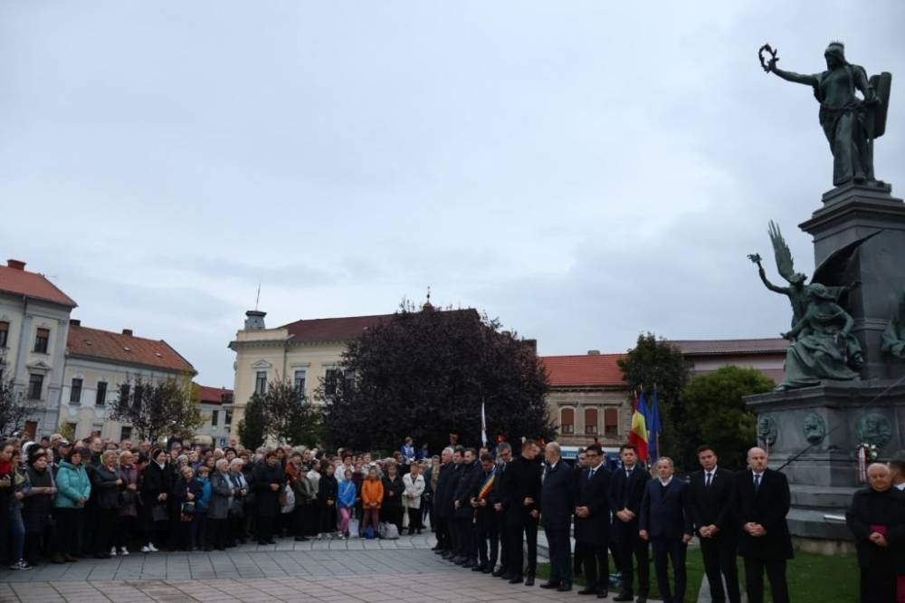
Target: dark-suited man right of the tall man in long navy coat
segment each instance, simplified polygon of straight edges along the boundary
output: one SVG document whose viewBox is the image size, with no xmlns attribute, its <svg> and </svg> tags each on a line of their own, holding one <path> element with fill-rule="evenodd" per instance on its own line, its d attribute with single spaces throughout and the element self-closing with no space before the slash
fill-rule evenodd
<svg viewBox="0 0 905 603">
<path fill-rule="evenodd" d="M 586 587 L 579 595 L 609 594 L 610 472 L 604 466 L 600 445 L 585 450 L 587 465 L 578 475 L 575 500 L 576 558 L 585 566 Z"/>
</svg>

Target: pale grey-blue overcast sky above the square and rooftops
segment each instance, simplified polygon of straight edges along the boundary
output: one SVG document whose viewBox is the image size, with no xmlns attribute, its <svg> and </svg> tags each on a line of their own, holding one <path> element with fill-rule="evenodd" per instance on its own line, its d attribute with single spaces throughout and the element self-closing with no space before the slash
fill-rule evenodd
<svg viewBox="0 0 905 603">
<path fill-rule="evenodd" d="M 767 238 L 831 187 L 831 39 L 894 74 L 876 172 L 905 187 L 905 3 L 0 3 L 0 259 L 198 380 L 268 326 L 471 306 L 541 354 L 773 337 Z M 899 187 L 897 188 L 896 185 Z"/>
</svg>

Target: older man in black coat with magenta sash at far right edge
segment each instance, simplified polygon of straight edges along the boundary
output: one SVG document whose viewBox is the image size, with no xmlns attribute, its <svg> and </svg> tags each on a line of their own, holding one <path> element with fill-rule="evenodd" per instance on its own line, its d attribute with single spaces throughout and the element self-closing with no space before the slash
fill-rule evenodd
<svg viewBox="0 0 905 603">
<path fill-rule="evenodd" d="M 869 466 L 867 482 L 845 512 L 861 566 L 861 601 L 896 601 L 896 575 L 905 574 L 905 494 L 892 486 L 885 464 Z"/>
</svg>

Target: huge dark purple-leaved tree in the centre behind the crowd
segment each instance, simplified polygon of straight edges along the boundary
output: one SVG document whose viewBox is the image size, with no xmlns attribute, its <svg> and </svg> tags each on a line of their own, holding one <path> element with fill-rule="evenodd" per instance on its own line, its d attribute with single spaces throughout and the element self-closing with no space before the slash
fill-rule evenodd
<svg viewBox="0 0 905 603">
<path fill-rule="evenodd" d="M 321 380 L 330 447 L 395 450 L 405 436 L 434 451 L 451 432 L 481 444 L 550 438 L 546 370 L 533 345 L 477 311 L 403 304 L 393 317 L 348 344 L 338 371 Z"/>
</svg>

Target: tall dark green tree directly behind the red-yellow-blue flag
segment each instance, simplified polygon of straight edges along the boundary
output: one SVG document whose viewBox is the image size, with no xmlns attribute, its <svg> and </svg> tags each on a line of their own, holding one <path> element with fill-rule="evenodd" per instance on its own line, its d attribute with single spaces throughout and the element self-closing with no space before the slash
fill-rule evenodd
<svg viewBox="0 0 905 603">
<path fill-rule="evenodd" d="M 631 396 L 643 390 L 650 399 L 653 389 L 657 389 L 662 423 L 659 453 L 672 457 L 676 464 L 687 469 L 682 460 L 689 458 L 690 449 L 693 455 L 694 448 L 684 432 L 687 413 L 682 407 L 681 391 L 689 381 L 691 363 L 669 341 L 644 333 L 638 336 L 634 348 L 628 350 L 627 358 L 620 359 L 618 364 Z"/>
</svg>

